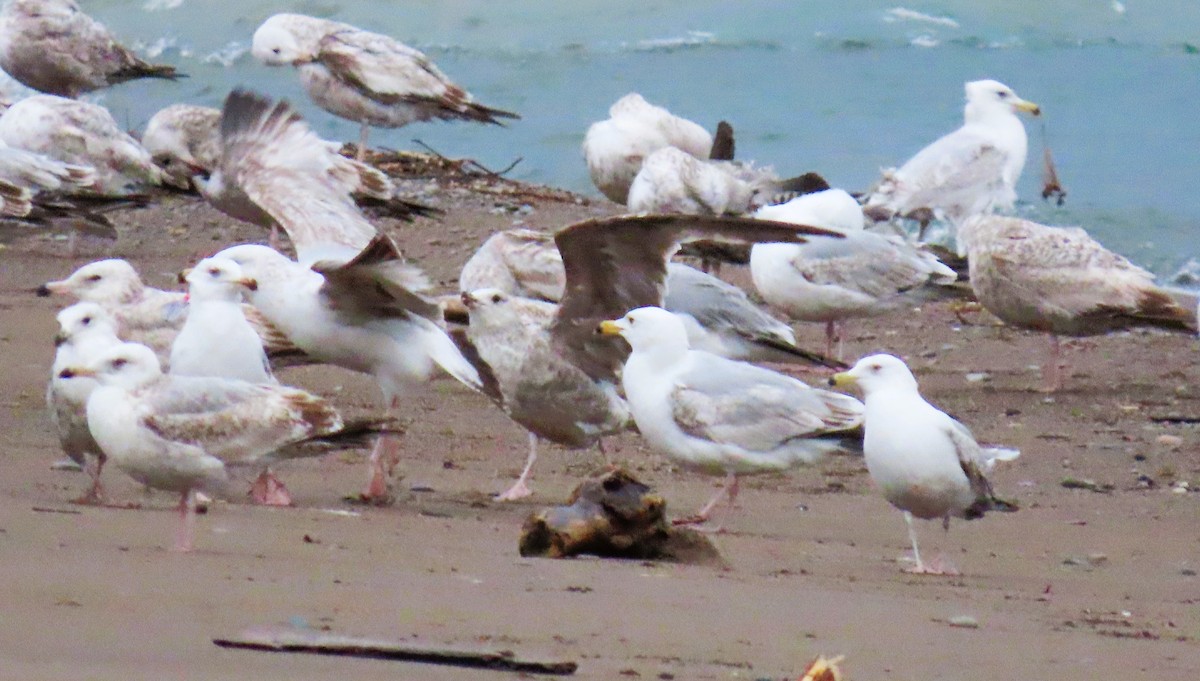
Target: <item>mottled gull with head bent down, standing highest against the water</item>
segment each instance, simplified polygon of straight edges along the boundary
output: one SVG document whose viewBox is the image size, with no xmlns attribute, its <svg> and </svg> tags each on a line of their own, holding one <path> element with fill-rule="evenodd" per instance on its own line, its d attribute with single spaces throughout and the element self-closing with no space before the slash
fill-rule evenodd
<svg viewBox="0 0 1200 681">
<path fill-rule="evenodd" d="M 371 126 L 434 119 L 503 125 L 500 119 L 521 117 L 476 103 L 421 52 L 340 22 L 275 14 L 254 31 L 251 53 L 268 66 L 295 66 L 318 107 L 358 121 L 359 161 Z"/>
</svg>

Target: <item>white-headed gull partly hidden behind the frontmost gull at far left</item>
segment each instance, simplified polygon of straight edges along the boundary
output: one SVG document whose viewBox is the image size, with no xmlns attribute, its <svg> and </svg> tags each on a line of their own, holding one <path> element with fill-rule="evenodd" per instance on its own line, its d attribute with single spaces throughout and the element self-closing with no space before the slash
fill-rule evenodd
<svg viewBox="0 0 1200 681">
<path fill-rule="evenodd" d="M 91 488 L 77 499 L 78 504 L 101 504 L 104 488 L 100 474 L 104 468 L 104 452 L 88 429 L 88 398 L 96 388 L 95 379 L 64 378 L 67 367 L 88 364 L 101 352 L 119 345 L 116 321 L 104 308 L 94 302 L 77 302 L 58 314 L 59 332 L 54 337 L 54 364 L 50 382 L 46 386 L 46 406 L 50 422 L 59 434 L 62 452 L 88 472 Z"/>
</svg>

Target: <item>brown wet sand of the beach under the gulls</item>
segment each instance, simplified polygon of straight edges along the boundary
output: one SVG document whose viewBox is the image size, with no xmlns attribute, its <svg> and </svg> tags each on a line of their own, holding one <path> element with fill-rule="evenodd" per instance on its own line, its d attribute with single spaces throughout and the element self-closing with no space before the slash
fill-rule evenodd
<svg viewBox="0 0 1200 681">
<path fill-rule="evenodd" d="M 613 212 L 558 193 L 431 195 L 448 211 L 440 219 L 382 224 L 445 290 L 493 229 Z M 403 406 L 394 505 L 343 500 L 365 481 L 365 452 L 298 462 L 278 471 L 296 507 L 217 501 L 198 520 L 197 552 L 180 555 L 168 550 L 172 495 L 148 495 L 114 469 L 110 495 L 140 508 L 76 506 L 68 500 L 86 477 L 50 470 L 61 452 L 43 391 L 64 301 L 32 289 L 101 257 L 127 258 L 148 283 L 170 287 L 198 255 L 265 235 L 187 198 L 112 217 L 120 239 L 84 243 L 78 258 L 64 257 L 50 231 L 0 228 L 0 677 L 504 677 L 211 644 L 288 623 L 574 659 L 581 679 L 794 677 L 818 652 L 845 655 L 856 681 L 1200 675 L 1200 494 L 1172 489 L 1200 489 L 1200 436 L 1180 422 L 1200 417 L 1193 338 L 1135 331 L 1078 343 L 1066 390 L 1048 397 L 1033 390 L 1031 368 L 1046 338 L 985 314 L 962 324 L 938 303 L 850 325 L 847 358 L 905 356 L 931 402 L 980 440 L 1022 451 L 994 475 L 1020 512 L 955 522 L 948 535 L 936 523 L 919 528 L 923 549 L 943 552 L 962 571 L 956 578 L 901 572 L 904 520 L 860 459 L 749 478 L 728 531 L 713 537 L 724 568 L 523 559 L 524 517 L 565 499 L 602 460 L 546 446 L 535 495 L 491 501 L 520 471 L 526 435 L 452 380 Z M 817 325 L 798 335 L 823 343 Z M 341 369 L 287 369 L 281 379 L 350 412 L 379 404 L 370 380 Z M 614 458 L 673 514 L 721 482 L 677 470 L 632 435 Z M 1111 490 L 1069 489 L 1066 478 Z M 978 627 L 952 626 L 964 616 Z"/>
</svg>

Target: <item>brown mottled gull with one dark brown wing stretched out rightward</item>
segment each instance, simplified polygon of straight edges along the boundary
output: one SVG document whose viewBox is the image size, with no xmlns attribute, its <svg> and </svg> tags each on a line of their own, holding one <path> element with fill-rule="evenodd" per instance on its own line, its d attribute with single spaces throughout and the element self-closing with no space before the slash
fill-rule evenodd
<svg viewBox="0 0 1200 681">
<path fill-rule="evenodd" d="M 533 435 L 586 447 L 629 422 L 617 393 L 625 349 L 595 335 L 601 319 L 661 305 L 668 260 L 683 241 L 803 241 L 826 234 L 802 225 L 696 216 L 620 216 L 564 228 L 554 243 L 565 266 L 562 303 L 520 299 L 493 288 L 464 291 L 468 357 L 494 376 L 498 402 Z M 528 495 L 536 439 L 520 480 L 502 499 Z"/>
</svg>

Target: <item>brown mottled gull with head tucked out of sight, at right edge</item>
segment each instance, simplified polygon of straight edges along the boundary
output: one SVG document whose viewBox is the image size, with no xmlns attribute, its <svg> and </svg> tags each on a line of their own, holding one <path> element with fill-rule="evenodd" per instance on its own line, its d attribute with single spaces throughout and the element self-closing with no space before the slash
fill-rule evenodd
<svg viewBox="0 0 1200 681">
<path fill-rule="evenodd" d="M 1133 326 L 1195 333 L 1195 300 L 1154 284 L 1154 276 L 1080 228 L 976 216 L 959 228 L 971 288 L 1010 326 L 1050 335 L 1046 391 L 1062 387 L 1058 336 L 1096 336 Z"/>
</svg>

